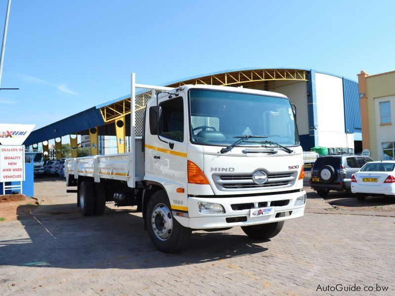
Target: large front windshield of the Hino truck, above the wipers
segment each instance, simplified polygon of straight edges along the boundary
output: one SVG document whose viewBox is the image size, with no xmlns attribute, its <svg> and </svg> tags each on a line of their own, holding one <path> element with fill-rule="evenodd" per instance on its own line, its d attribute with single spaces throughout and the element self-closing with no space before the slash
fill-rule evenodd
<svg viewBox="0 0 395 296">
<path fill-rule="evenodd" d="M 292 107 L 285 98 L 191 89 L 190 114 L 192 142 L 196 144 L 228 146 L 243 135 L 267 137 L 254 142 L 299 144 Z"/>
</svg>

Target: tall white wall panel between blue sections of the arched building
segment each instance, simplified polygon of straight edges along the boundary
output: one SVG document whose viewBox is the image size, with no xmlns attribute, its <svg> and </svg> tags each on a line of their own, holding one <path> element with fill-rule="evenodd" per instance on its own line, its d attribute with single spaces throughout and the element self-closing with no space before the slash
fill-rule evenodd
<svg viewBox="0 0 395 296">
<path fill-rule="evenodd" d="M 342 78 L 316 73 L 318 146 L 354 148 L 354 136 L 346 135 Z"/>
</svg>

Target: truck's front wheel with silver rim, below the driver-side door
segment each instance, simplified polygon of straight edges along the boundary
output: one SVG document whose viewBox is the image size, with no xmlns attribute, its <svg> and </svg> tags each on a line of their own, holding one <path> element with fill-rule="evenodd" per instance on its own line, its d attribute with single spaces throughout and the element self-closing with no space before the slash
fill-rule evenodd
<svg viewBox="0 0 395 296">
<path fill-rule="evenodd" d="M 175 253 L 186 248 L 191 238 L 191 228 L 174 219 L 164 190 L 156 191 L 150 198 L 145 223 L 151 241 L 164 253 Z"/>
</svg>

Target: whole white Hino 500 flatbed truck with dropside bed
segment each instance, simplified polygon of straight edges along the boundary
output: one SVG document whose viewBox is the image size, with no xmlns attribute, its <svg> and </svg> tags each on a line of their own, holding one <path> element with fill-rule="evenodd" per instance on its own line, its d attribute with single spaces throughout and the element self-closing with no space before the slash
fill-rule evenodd
<svg viewBox="0 0 395 296">
<path fill-rule="evenodd" d="M 142 97 L 150 99 L 137 113 Z M 103 214 L 106 202 L 137 206 L 166 253 L 185 248 L 194 230 L 241 226 L 267 240 L 285 220 L 303 216 L 303 154 L 284 95 L 136 84 L 132 74 L 130 102 L 128 153 L 66 160 L 82 215 Z"/>
</svg>

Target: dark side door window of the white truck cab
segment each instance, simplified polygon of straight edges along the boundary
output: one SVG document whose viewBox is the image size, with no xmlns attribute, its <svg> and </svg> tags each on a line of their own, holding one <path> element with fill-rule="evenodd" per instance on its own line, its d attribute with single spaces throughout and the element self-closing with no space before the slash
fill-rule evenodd
<svg viewBox="0 0 395 296">
<path fill-rule="evenodd" d="M 184 103 L 176 98 L 159 105 L 159 135 L 177 142 L 184 141 Z"/>
</svg>

